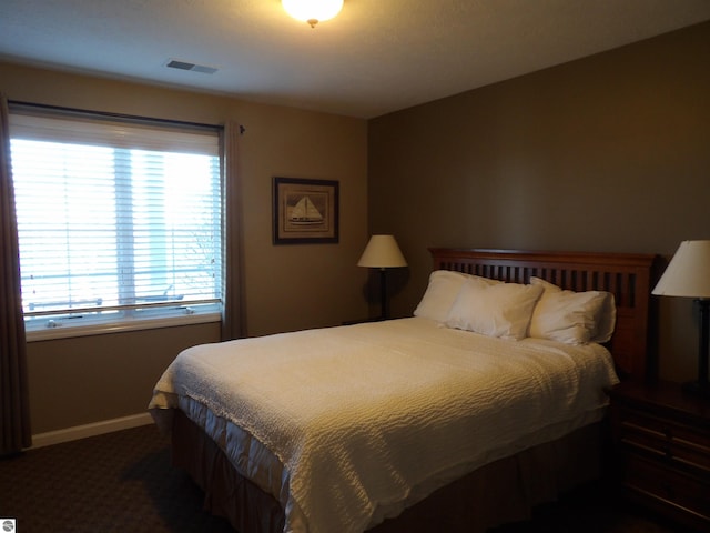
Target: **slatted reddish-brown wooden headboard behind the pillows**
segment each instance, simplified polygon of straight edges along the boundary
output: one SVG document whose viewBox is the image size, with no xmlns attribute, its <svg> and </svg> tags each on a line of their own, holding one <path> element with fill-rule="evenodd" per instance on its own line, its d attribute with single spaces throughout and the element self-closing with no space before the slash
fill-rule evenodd
<svg viewBox="0 0 710 533">
<path fill-rule="evenodd" d="M 649 296 L 657 255 L 594 252 L 532 252 L 430 248 L 434 270 L 456 270 L 510 283 L 541 278 L 571 291 L 607 291 L 617 303 L 609 342 L 619 376 L 646 380 Z"/>
</svg>

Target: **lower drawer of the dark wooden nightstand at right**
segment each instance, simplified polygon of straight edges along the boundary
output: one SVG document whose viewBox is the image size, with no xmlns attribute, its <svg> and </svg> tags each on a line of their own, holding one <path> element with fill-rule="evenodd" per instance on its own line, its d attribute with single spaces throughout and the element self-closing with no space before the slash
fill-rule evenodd
<svg viewBox="0 0 710 533">
<path fill-rule="evenodd" d="M 710 485 L 707 482 L 627 454 L 622 484 L 643 497 L 650 496 L 663 505 L 706 520 L 710 525 Z"/>
</svg>

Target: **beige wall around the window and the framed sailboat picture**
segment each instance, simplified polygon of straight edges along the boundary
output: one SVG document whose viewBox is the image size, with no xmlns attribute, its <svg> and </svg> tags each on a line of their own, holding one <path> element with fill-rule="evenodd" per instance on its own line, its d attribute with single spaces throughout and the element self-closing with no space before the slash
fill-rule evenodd
<svg viewBox="0 0 710 533">
<path fill-rule="evenodd" d="M 247 334 L 338 324 L 364 316 L 367 273 L 367 125 L 364 120 L 219 95 L 0 62 L 10 100 L 205 123 L 234 120 L 243 187 Z M 272 244 L 272 178 L 338 180 L 338 244 Z M 29 344 L 33 433 L 143 412 L 179 350 L 219 340 L 216 325 Z"/>
</svg>

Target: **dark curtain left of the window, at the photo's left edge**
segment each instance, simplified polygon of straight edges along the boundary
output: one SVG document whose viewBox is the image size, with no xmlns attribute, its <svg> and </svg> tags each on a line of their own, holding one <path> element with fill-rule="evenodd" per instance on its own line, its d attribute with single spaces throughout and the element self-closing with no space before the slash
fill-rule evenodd
<svg viewBox="0 0 710 533">
<path fill-rule="evenodd" d="M 32 444 L 8 101 L 0 94 L 0 455 Z"/>
</svg>

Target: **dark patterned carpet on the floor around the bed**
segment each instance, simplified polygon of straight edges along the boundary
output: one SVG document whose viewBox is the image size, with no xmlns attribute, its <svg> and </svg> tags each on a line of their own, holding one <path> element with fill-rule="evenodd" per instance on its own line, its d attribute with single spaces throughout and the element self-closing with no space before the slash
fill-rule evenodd
<svg viewBox="0 0 710 533">
<path fill-rule="evenodd" d="M 17 533 L 233 531 L 223 519 L 202 511 L 202 497 L 190 477 L 171 466 L 168 440 L 153 425 L 0 460 L 0 519 L 16 519 Z M 540 506 L 529 522 L 496 529 L 496 533 L 676 531 L 680 530 L 638 510 L 611 504 L 596 486 Z"/>
</svg>

